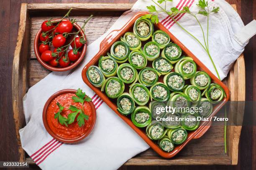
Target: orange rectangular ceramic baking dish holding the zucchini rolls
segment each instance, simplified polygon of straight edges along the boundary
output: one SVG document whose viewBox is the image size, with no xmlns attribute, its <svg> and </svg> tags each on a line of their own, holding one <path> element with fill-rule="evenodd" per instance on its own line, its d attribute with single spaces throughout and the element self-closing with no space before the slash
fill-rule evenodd
<svg viewBox="0 0 256 170">
<path fill-rule="evenodd" d="M 192 132 L 188 133 L 187 136 L 187 140 L 182 143 L 181 145 L 177 145 L 174 150 L 172 150 L 172 152 L 170 153 L 166 153 L 163 150 L 161 150 L 161 148 L 159 148 L 158 144 L 155 143 L 154 141 L 150 140 L 147 135 L 146 135 L 146 130 L 141 129 L 136 127 L 133 122 L 131 121 L 131 119 L 129 117 L 126 117 L 124 115 L 121 115 L 118 110 L 117 110 L 117 105 L 116 105 L 116 100 L 110 99 L 107 97 L 107 95 L 105 95 L 104 92 L 101 92 L 99 88 L 93 86 L 89 80 L 87 79 L 86 76 L 86 72 L 87 69 L 91 66 L 91 65 L 98 65 L 98 60 L 100 59 L 101 55 L 106 56 L 107 52 L 110 51 L 111 45 L 120 40 L 120 37 L 123 36 L 125 34 L 125 32 L 132 32 L 133 30 L 133 24 L 135 23 L 136 19 L 138 19 L 139 17 L 141 17 L 142 15 L 148 14 L 147 12 L 140 12 L 137 13 L 133 18 L 131 18 L 131 20 L 128 21 L 128 23 L 126 23 L 123 28 L 121 28 L 120 30 L 113 30 L 112 32 L 110 32 L 110 34 L 105 37 L 105 39 L 100 43 L 100 50 L 99 52 L 92 58 L 92 60 L 84 67 L 84 69 L 82 70 L 82 78 L 84 80 L 84 82 L 92 89 L 94 90 L 98 96 L 100 96 L 102 98 L 102 100 L 112 109 L 115 111 L 116 114 L 118 114 L 129 126 L 131 126 L 131 128 L 133 128 L 133 130 L 143 139 L 145 140 L 145 142 L 156 151 L 156 153 L 158 153 L 159 155 L 161 155 L 164 158 L 172 158 L 174 157 L 177 153 L 179 153 L 180 150 L 182 150 L 182 148 L 184 148 L 187 143 L 189 143 L 190 140 L 192 139 L 197 139 L 200 138 L 209 128 L 211 125 L 211 122 L 201 122 L 199 128 L 197 128 L 197 130 L 194 130 Z M 230 92 L 228 90 L 228 88 L 223 84 L 223 82 L 221 82 L 215 75 L 213 75 L 212 72 L 210 72 L 209 69 L 207 69 L 207 67 L 200 61 L 197 59 L 197 57 L 195 57 L 195 55 L 192 54 L 192 52 L 190 52 L 187 47 L 185 47 L 176 37 L 174 37 L 174 35 L 172 35 L 171 32 L 169 32 L 163 25 L 161 25 L 161 23 L 155 24 L 154 25 L 155 30 L 163 30 L 164 32 L 166 32 L 170 38 L 171 41 L 177 45 L 179 45 L 179 47 L 182 49 L 183 55 L 192 57 L 193 60 L 196 62 L 197 64 L 197 70 L 203 70 L 205 71 L 212 79 L 212 81 L 214 83 L 219 84 L 221 87 L 223 87 L 225 93 L 226 93 L 226 97 L 224 97 L 224 99 L 219 102 L 217 105 L 214 106 L 213 111 L 211 113 L 210 116 L 215 115 L 218 110 L 220 110 L 221 107 L 223 107 L 223 105 L 225 104 L 225 102 L 227 102 L 229 100 L 230 97 Z M 162 80 L 159 80 L 162 81 Z M 126 89 L 127 90 L 127 89 Z"/>
</svg>

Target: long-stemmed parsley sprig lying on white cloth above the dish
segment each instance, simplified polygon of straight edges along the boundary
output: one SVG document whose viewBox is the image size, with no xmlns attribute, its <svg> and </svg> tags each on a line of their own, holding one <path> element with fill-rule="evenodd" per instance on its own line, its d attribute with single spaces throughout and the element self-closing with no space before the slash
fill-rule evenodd
<svg viewBox="0 0 256 170">
<path fill-rule="evenodd" d="M 212 57 L 210 55 L 210 50 L 209 50 L 209 43 L 208 43 L 208 35 L 209 35 L 209 17 L 210 17 L 210 13 L 218 13 L 218 11 L 220 10 L 220 7 L 213 7 L 211 10 L 209 9 L 208 6 L 208 2 L 205 0 L 199 0 L 197 6 L 200 7 L 200 10 L 197 13 L 192 13 L 189 10 L 188 6 L 183 7 L 182 10 L 179 10 L 177 7 L 172 7 L 170 10 L 166 10 L 166 2 L 172 2 L 172 0 L 158 0 L 157 2 L 155 2 L 154 0 L 151 0 L 152 2 L 154 2 L 154 4 L 156 4 L 158 7 L 161 8 L 161 10 L 156 10 L 156 7 L 154 5 L 150 5 L 147 6 L 148 12 L 150 12 L 150 14 L 144 15 L 143 18 L 148 18 L 152 21 L 152 23 L 159 23 L 159 18 L 158 18 L 158 14 L 159 13 L 166 13 L 167 15 L 169 15 L 172 20 L 174 20 L 174 22 L 180 27 L 182 28 L 182 30 L 184 30 L 187 34 L 189 34 L 191 37 L 193 37 L 205 50 L 205 52 L 207 53 L 207 55 L 209 56 L 212 65 L 218 75 L 218 78 L 220 79 L 220 75 L 219 72 L 215 66 L 215 63 L 212 60 Z M 160 4 L 164 3 L 164 7 L 161 7 Z M 200 42 L 200 40 L 195 37 L 194 35 L 192 35 L 191 32 L 189 32 L 188 30 L 186 30 L 182 25 L 179 24 L 179 22 L 177 22 L 176 19 L 174 19 L 174 17 L 179 14 L 179 13 L 188 13 L 189 15 L 192 15 L 195 20 L 197 21 L 198 25 L 200 26 L 201 30 L 202 30 L 202 36 L 204 39 L 204 42 Z M 200 21 L 197 18 L 197 15 L 205 15 L 207 16 L 207 31 L 205 34 L 205 30 L 202 28 L 202 25 L 200 23 Z M 203 45 L 204 44 L 204 45 Z"/>
</svg>

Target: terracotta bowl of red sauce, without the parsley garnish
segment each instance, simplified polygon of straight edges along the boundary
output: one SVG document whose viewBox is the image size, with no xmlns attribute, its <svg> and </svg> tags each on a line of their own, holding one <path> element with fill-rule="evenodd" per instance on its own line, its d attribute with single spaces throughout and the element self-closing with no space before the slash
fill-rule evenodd
<svg viewBox="0 0 256 170">
<path fill-rule="evenodd" d="M 90 102 L 84 102 L 84 105 L 80 102 L 74 102 L 73 96 L 76 96 L 77 90 L 65 89 L 54 93 L 45 103 L 43 110 L 43 122 L 47 132 L 56 140 L 63 143 L 76 143 L 86 138 L 94 128 L 96 122 L 96 110 L 95 106 Z M 70 105 L 84 110 L 84 114 L 88 116 L 87 120 L 84 120 L 84 125 L 79 126 L 77 117 L 74 122 L 67 125 L 61 125 L 55 114 L 59 112 L 59 103 L 63 108 L 60 113 L 62 117 L 68 118 L 68 115 L 72 113 L 69 110 Z"/>
</svg>

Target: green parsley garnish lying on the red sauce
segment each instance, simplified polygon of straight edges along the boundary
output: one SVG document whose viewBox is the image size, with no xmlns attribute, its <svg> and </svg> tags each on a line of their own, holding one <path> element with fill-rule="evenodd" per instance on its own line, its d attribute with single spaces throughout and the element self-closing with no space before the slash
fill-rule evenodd
<svg viewBox="0 0 256 170">
<path fill-rule="evenodd" d="M 81 127 L 84 125 L 84 120 L 89 119 L 89 116 L 84 114 L 84 102 L 90 102 L 90 101 L 92 101 L 92 99 L 90 97 L 86 96 L 85 92 L 82 92 L 82 90 L 80 88 L 77 90 L 76 96 L 73 96 L 72 100 L 74 102 L 82 103 L 82 108 L 79 108 L 74 105 L 70 105 L 69 110 L 71 110 L 72 113 L 69 113 L 68 118 L 61 116 L 61 112 L 64 109 L 64 107 L 61 106 L 59 104 L 59 102 L 56 103 L 59 106 L 59 112 L 55 113 L 54 118 L 55 119 L 58 118 L 61 125 L 67 126 L 69 124 L 72 124 L 74 122 L 75 118 L 77 117 L 77 123 L 78 123 L 79 127 Z M 79 114 L 79 115 L 77 116 L 77 114 Z"/>
</svg>

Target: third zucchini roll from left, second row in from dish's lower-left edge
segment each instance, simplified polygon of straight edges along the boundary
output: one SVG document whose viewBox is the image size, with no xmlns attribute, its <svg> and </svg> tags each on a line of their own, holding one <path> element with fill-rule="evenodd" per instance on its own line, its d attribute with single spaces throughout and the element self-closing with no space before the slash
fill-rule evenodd
<svg viewBox="0 0 256 170">
<path fill-rule="evenodd" d="M 148 88 L 139 83 L 133 84 L 129 89 L 129 93 L 133 100 L 141 106 L 146 105 L 150 97 Z"/>
</svg>

